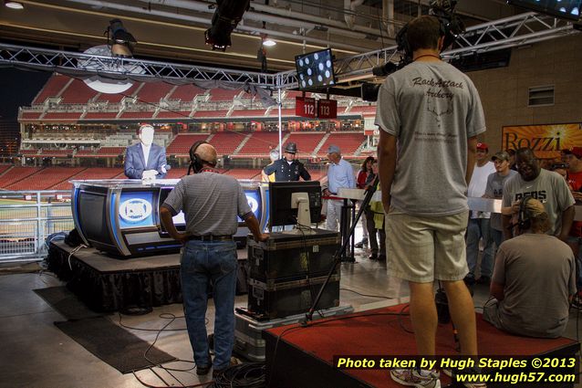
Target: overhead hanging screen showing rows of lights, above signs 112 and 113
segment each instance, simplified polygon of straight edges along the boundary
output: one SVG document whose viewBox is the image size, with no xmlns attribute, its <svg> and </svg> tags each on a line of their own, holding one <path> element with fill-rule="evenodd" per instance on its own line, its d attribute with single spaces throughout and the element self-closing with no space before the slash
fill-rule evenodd
<svg viewBox="0 0 582 388">
<path fill-rule="evenodd" d="M 297 82 L 300 90 L 312 90 L 336 84 L 331 48 L 296 56 Z"/>
</svg>

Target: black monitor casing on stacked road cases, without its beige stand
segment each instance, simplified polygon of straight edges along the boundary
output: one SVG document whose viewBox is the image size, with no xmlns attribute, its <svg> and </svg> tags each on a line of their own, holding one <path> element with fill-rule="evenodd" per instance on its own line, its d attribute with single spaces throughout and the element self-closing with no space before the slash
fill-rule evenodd
<svg viewBox="0 0 582 388">
<path fill-rule="evenodd" d="M 271 182 L 269 183 L 269 225 L 296 225 L 297 209 L 293 208 L 294 193 L 306 193 L 309 198 L 311 223 L 321 220 L 321 186 L 319 182 Z"/>
</svg>

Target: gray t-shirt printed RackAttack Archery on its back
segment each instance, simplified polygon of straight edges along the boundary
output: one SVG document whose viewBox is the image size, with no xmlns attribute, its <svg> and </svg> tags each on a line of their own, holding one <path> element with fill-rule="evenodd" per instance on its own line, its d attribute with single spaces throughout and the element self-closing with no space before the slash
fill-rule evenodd
<svg viewBox="0 0 582 388">
<path fill-rule="evenodd" d="M 411 215 L 468 209 L 467 139 L 485 131 L 471 79 L 445 62 L 412 62 L 380 86 L 375 123 L 398 138 L 391 205 Z"/>
</svg>

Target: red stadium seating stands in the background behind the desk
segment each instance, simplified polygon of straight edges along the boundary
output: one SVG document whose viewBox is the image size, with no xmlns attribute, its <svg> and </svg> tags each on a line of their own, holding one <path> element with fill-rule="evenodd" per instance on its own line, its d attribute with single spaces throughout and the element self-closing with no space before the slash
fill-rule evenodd
<svg viewBox="0 0 582 388">
<path fill-rule="evenodd" d="M 339 117 L 329 129 L 309 131 L 322 127 L 315 121 L 296 117 L 295 99 L 303 95 L 293 90 L 282 93 L 281 114 L 286 128 L 292 130 L 283 132 L 282 142 L 284 146 L 288 142 L 297 144 L 298 156 L 303 162 L 310 163 L 313 179 L 326 177 L 325 166 L 318 163 L 325 159 L 330 144 L 338 145 L 344 157 L 350 160 L 368 155 L 369 150 L 363 150 L 366 136 L 359 125 L 370 122 L 376 111 L 375 105 L 339 98 Z M 307 93 L 307 97 L 313 96 Z M 344 125 L 342 115 L 346 116 L 345 120 L 359 119 L 360 124 L 350 122 Z M 192 144 L 198 141 L 210 142 L 219 157 L 227 155 L 236 159 L 234 163 L 240 160 L 249 162 L 244 163 L 246 165 L 256 165 L 257 160 L 268 163 L 269 152 L 279 146 L 279 133 L 272 131 L 277 116 L 276 106 L 266 108 L 242 89 L 200 89 L 165 82 L 134 82 L 123 93 L 105 94 L 88 88 L 82 80 L 54 75 L 37 93 L 31 106 L 22 107 L 18 118 L 21 124 L 33 124 L 31 128 L 34 129 L 30 131 L 32 137 L 26 136 L 27 142 L 21 144 L 19 153 L 35 159 L 36 164 L 47 163 L 46 158 L 51 158 L 49 162 L 54 166 L 1 165 L 0 190 L 69 190 L 70 180 L 123 179 L 120 163 L 127 145 L 136 141 L 135 128 L 128 124 L 144 121 L 182 121 L 182 126 L 156 130 L 156 142 L 165 144 L 168 157 L 177 158 L 181 163 L 181 167 L 171 169 L 167 175 L 169 179 L 181 178 L 187 173 L 184 162 Z M 191 122 L 197 123 L 195 128 L 202 130 L 192 131 Z M 37 125 L 43 123 L 57 125 L 58 130 Z M 78 128 L 82 129 L 76 129 L 74 124 L 79 124 Z M 357 130 L 348 131 L 350 128 Z M 91 142 L 83 143 L 84 140 Z M 99 164 L 117 167 L 75 167 L 83 158 L 106 159 L 107 164 Z M 87 162 L 82 160 L 80 163 Z M 261 168 L 229 167 L 221 172 L 237 179 L 260 179 Z"/>
</svg>

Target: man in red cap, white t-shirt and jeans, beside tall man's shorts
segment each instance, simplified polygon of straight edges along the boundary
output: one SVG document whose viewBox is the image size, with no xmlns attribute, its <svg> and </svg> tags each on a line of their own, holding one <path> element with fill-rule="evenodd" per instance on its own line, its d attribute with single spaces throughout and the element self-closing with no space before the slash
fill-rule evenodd
<svg viewBox="0 0 582 388">
<path fill-rule="evenodd" d="M 489 147 L 484 142 L 477 143 L 475 167 L 469 183 L 467 195 L 480 198 L 485 194 L 487 178 L 495 173 L 495 164 L 489 160 Z M 489 284 L 494 268 L 494 239 L 489 225 L 491 213 L 472 210 L 467 225 L 467 265 L 469 273 L 465 277 L 467 284 L 475 283 L 475 269 L 479 256 L 479 240 L 483 238 L 483 257 L 481 258 L 481 278 L 479 283 Z"/>
</svg>

